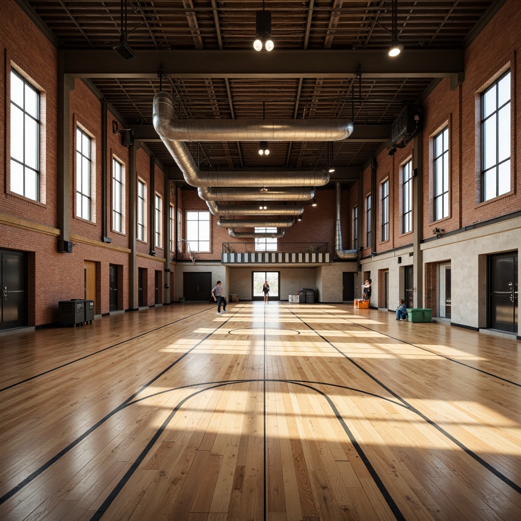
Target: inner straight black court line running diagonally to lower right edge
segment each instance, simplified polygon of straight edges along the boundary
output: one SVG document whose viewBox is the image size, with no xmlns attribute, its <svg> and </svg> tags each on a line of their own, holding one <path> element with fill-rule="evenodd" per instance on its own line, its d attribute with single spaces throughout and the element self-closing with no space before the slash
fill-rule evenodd
<svg viewBox="0 0 521 521">
<path fill-rule="evenodd" d="M 291 311 L 291 310 L 290 310 Z M 470 450 L 466 445 L 464 445 L 460 440 L 456 439 L 454 436 L 452 436 L 448 431 L 446 431 L 443 427 L 440 427 L 435 421 L 431 420 L 428 416 L 426 416 L 424 413 L 420 412 L 416 407 L 408 403 L 405 399 L 403 399 L 398 393 L 395 393 L 393 390 L 391 390 L 386 384 L 381 382 L 376 376 L 373 376 L 367 369 L 364 369 L 360 364 L 355 362 L 353 358 L 346 355 L 344 352 L 342 352 L 339 348 L 337 348 L 336 345 L 334 345 L 332 342 L 327 340 L 324 336 L 322 336 L 318 331 L 316 331 L 312 326 L 307 324 L 305 320 L 300 318 L 298 315 L 291 313 L 298 318 L 303 324 L 305 324 L 309 329 L 311 329 L 315 334 L 317 334 L 324 342 L 328 343 L 334 350 L 336 350 L 338 353 L 340 353 L 346 360 L 349 360 L 357 369 L 361 370 L 362 373 L 364 373 L 367 377 L 369 377 L 371 380 L 376 382 L 380 387 L 385 389 L 388 393 L 390 393 L 396 400 L 399 400 L 402 402 L 408 410 L 413 412 L 414 414 L 417 414 L 420 418 L 425 420 L 431 427 L 435 428 L 438 432 L 440 432 L 443 436 L 448 438 L 452 443 L 457 445 L 461 450 L 463 450 L 467 455 L 472 457 L 477 463 L 479 463 L 481 466 L 485 467 L 489 472 L 491 472 L 494 476 L 501 479 L 505 483 L 505 485 L 508 485 L 508 487 L 515 490 L 517 493 L 521 494 L 521 486 L 517 485 L 517 483 L 514 483 L 510 478 L 502 474 L 497 468 L 493 467 L 490 463 L 483 460 L 481 456 L 476 454 L 474 451 Z M 356 322 L 353 322 L 353 324 L 356 324 Z M 383 333 L 381 333 L 383 336 Z M 411 344 L 414 345 L 414 344 Z"/>
</svg>

